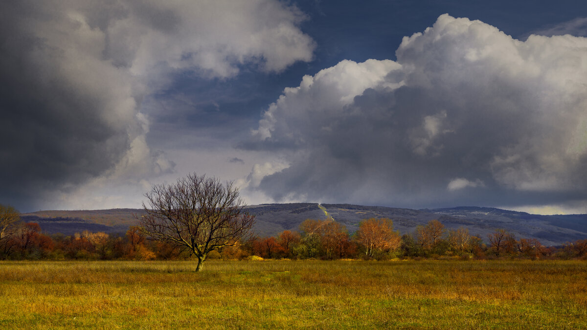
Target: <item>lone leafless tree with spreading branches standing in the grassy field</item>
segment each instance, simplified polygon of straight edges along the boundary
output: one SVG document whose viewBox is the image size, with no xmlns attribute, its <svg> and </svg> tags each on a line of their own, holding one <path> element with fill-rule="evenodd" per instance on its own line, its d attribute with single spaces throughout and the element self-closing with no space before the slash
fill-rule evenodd
<svg viewBox="0 0 587 330">
<path fill-rule="evenodd" d="M 175 184 L 153 186 L 144 196 L 146 215 L 139 220 L 149 239 L 187 248 L 198 258 L 195 271 L 210 251 L 251 237 L 255 217 L 243 210 L 232 182 L 189 174 Z"/>
</svg>

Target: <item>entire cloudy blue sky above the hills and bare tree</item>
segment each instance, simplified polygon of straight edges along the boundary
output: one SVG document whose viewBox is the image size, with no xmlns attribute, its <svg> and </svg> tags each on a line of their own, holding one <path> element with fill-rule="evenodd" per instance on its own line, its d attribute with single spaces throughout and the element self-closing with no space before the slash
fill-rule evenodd
<svg viewBox="0 0 587 330">
<path fill-rule="evenodd" d="M 0 203 L 587 207 L 587 2 L 6 0 Z"/>
</svg>

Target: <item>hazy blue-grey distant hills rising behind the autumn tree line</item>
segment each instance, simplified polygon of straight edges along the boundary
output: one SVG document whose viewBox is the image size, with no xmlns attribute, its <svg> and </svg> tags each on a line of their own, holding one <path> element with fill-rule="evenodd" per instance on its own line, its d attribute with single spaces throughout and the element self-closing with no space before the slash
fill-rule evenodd
<svg viewBox="0 0 587 330">
<path fill-rule="evenodd" d="M 587 238 L 587 215 L 536 215 L 488 207 L 454 207 L 424 210 L 351 204 L 261 204 L 247 206 L 257 216 L 255 232 L 272 236 L 284 230 L 298 230 L 306 219 L 326 219 L 326 213 L 335 221 L 345 224 L 354 233 L 365 218 L 391 218 L 394 228 L 401 234 L 413 233 L 417 225 L 433 219 L 447 228 L 468 228 L 471 234 L 487 241 L 487 234 L 503 228 L 518 238 L 537 238 L 544 245 L 560 245 L 568 241 Z M 83 230 L 125 233 L 130 225 L 138 225 L 133 214 L 142 210 L 119 208 L 91 211 L 39 211 L 22 214 L 23 221 L 36 222 L 46 233 L 72 235 Z"/>
</svg>

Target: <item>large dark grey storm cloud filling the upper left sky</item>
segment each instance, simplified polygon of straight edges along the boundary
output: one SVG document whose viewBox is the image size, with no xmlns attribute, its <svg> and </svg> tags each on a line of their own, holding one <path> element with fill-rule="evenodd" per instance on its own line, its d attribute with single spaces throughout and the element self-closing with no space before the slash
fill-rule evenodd
<svg viewBox="0 0 587 330">
<path fill-rule="evenodd" d="M 191 72 L 281 72 L 312 58 L 305 16 L 278 1 L 3 1 L 3 203 L 32 207 L 89 180 L 173 171 L 141 101 Z"/>
</svg>

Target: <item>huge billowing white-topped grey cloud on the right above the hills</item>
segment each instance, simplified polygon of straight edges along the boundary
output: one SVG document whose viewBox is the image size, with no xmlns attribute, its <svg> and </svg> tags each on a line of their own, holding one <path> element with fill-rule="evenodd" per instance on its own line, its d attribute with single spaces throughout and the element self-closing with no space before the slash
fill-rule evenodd
<svg viewBox="0 0 587 330">
<path fill-rule="evenodd" d="M 289 166 L 251 187 L 407 207 L 587 200 L 587 39 L 519 41 L 441 15 L 396 57 L 345 60 L 285 89 L 241 147 Z"/>
</svg>

